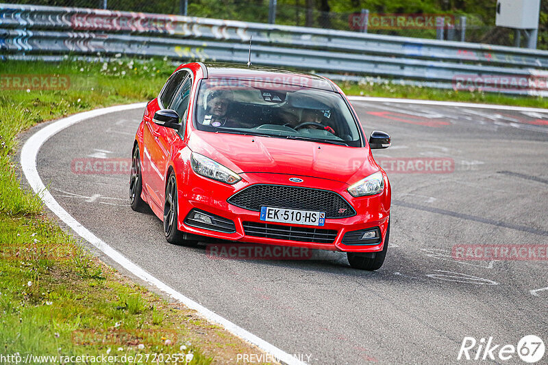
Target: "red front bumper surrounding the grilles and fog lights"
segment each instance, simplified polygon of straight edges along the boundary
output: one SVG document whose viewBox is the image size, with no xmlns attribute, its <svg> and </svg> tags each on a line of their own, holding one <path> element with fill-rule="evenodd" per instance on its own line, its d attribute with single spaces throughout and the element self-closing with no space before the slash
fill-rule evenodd
<svg viewBox="0 0 548 365">
<path fill-rule="evenodd" d="M 378 252 L 383 249 L 386 229 L 388 227 L 388 219 L 390 216 L 390 185 L 388 183 L 388 178 L 386 178 L 386 174 L 384 174 L 386 184 L 382 193 L 360 198 L 354 198 L 347 192 L 347 184 L 324 178 L 264 173 L 247 173 L 240 174 L 240 176 L 242 177 L 242 180 L 235 185 L 227 185 L 209 178 L 204 178 L 203 176 L 195 174 L 193 171 L 190 171 L 186 175 L 177 176 L 177 185 L 179 187 L 179 230 L 228 241 L 283 245 L 290 247 L 307 247 L 310 249 L 327 249 L 342 252 Z M 301 178 L 303 183 L 291 183 L 288 180 L 289 178 L 295 177 Z M 349 202 L 349 204 L 356 211 L 356 215 L 347 218 L 327 218 L 325 219 L 325 225 L 322 227 L 261 221 L 260 212 L 249 211 L 245 208 L 240 208 L 227 202 L 232 195 L 254 184 L 286 185 L 292 187 L 307 187 L 310 189 L 334 191 Z M 189 213 L 195 209 L 233 221 L 234 232 L 220 232 L 219 230 L 190 226 L 188 221 L 185 222 L 185 219 L 188 217 Z M 336 235 L 330 243 L 273 239 L 246 234 L 244 227 L 247 223 L 268 223 L 269 226 L 291 226 L 297 229 L 315 228 L 318 232 L 325 232 L 324 230 L 336 231 Z M 247 225 L 249 226 L 249 224 Z M 347 232 L 366 230 L 367 228 L 375 227 L 379 228 L 381 234 L 381 237 L 377 243 L 363 245 L 349 245 L 343 243 L 343 237 L 345 237 Z"/>
</svg>

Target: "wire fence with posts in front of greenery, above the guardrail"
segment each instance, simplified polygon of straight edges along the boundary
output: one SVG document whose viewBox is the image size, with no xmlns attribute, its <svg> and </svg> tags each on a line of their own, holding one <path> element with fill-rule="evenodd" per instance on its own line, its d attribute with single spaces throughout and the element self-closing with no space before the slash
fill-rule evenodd
<svg viewBox="0 0 548 365">
<path fill-rule="evenodd" d="M 269 22 L 269 0 L 0 0 L 5 3 L 68 6 L 81 8 L 105 8 L 129 12 L 158 14 L 187 14 L 206 18 L 221 18 L 257 23 Z M 327 1 L 321 1 L 327 3 Z M 484 19 L 477 14 L 402 14 L 382 13 L 360 9 L 357 12 L 323 12 L 313 0 L 277 0 L 275 24 L 296 25 L 323 29 L 357 31 L 388 36 L 456 40 L 474 43 L 514 46 L 514 29 L 495 27 L 493 17 Z M 360 3 L 360 1 L 357 1 Z M 306 7 L 306 5 L 310 5 Z M 314 6 L 313 6 L 314 5 Z M 490 10 L 488 10 L 490 14 Z M 272 15 L 272 14 L 271 14 Z M 548 49 L 548 27 L 541 25 L 538 31 L 538 49 Z M 547 23 L 547 22 L 544 22 Z M 523 46 L 525 34 L 522 32 Z"/>
</svg>

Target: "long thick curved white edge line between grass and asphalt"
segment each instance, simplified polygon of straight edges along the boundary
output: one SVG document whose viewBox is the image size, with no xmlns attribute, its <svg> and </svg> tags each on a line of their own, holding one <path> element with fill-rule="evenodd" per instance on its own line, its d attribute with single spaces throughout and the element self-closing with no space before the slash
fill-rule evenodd
<svg viewBox="0 0 548 365">
<path fill-rule="evenodd" d="M 38 195 L 40 195 L 42 202 L 44 202 L 44 204 L 53 213 L 55 213 L 55 215 L 57 215 L 62 221 L 64 221 L 67 226 L 71 227 L 74 232 L 76 232 L 83 239 L 100 249 L 105 255 L 112 258 L 112 260 L 118 262 L 119 265 L 127 269 L 127 271 L 136 275 L 136 277 L 144 280 L 152 286 L 155 286 L 159 290 L 162 290 L 162 292 L 166 293 L 173 299 L 184 303 L 184 305 L 188 308 L 196 310 L 201 316 L 203 316 L 203 318 L 207 319 L 208 321 L 221 325 L 228 332 L 235 334 L 236 336 L 246 340 L 247 342 L 251 342 L 251 344 L 255 344 L 257 347 L 259 347 L 263 351 L 266 351 L 267 353 L 271 353 L 271 355 L 273 355 L 280 361 L 285 362 L 286 364 L 303 365 L 303 362 L 297 360 L 297 358 L 293 357 L 292 355 L 286 353 L 285 351 L 282 351 L 281 349 L 278 349 L 273 344 L 262 340 L 262 338 L 251 334 L 251 332 L 248 332 L 242 327 L 239 327 L 238 325 L 223 318 L 222 316 L 219 316 L 219 314 L 208 310 L 208 308 L 201 306 L 201 304 L 184 296 L 182 293 L 177 292 L 177 290 L 171 288 L 171 286 L 168 286 L 161 280 L 155 278 L 153 275 L 147 273 L 147 271 L 145 271 L 138 265 L 134 264 L 134 262 L 130 261 L 120 252 L 116 251 L 116 249 L 110 247 L 107 243 L 105 243 L 104 241 L 99 239 L 99 237 L 95 236 L 95 234 L 90 232 L 90 230 L 82 226 L 79 221 L 74 219 L 72 215 L 70 215 L 67 211 L 64 210 L 62 206 L 60 206 L 55 198 L 53 198 L 53 195 L 49 193 L 44 183 L 42 183 L 42 179 L 40 178 L 40 175 L 38 175 L 38 170 L 36 169 L 36 157 L 38 156 L 38 150 L 40 150 L 40 147 L 50 137 L 52 137 L 56 133 L 59 133 L 63 129 L 66 129 L 69 126 L 72 126 L 73 124 L 82 122 L 82 120 L 94 118 L 97 116 L 103 116 L 105 114 L 118 111 L 144 108 L 145 105 L 146 103 L 137 103 L 86 111 L 84 113 L 75 114 L 74 116 L 70 116 L 69 118 L 64 118 L 58 120 L 57 122 L 53 122 L 52 124 L 49 124 L 49 126 L 45 126 L 44 128 L 40 129 L 40 131 L 34 133 L 34 135 L 32 135 L 25 142 L 25 145 L 21 150 L 21 167 L 23 167 L 23 173 L 25 174 L 25 178 L 27 178 L 29 185 L 36 193 L 38 193 Z"/>
</svg>

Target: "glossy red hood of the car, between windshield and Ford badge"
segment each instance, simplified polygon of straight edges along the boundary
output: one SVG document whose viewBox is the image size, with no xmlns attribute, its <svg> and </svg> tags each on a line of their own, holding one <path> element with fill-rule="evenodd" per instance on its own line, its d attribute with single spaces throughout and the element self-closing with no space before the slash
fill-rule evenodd
<svg viewBox="0 0 548 365">
<path fill-rule="evenodd" d="M 238 174 L 288 174 L 353 184 L 379 171 L 369 148 L 203 131 L 192 131 L 188 147 Z"/>
</svg>

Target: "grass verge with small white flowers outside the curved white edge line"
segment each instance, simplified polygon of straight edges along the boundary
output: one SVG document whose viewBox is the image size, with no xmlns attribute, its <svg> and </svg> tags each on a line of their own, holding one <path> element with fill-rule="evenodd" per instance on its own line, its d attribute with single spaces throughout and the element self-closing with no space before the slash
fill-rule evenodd
<svg viewBox="0 0 548 365">
<path fill-rule="evenodd" d="M 158 60 L 0 63 L 0 363 L 30 354 L 28 364 L 226 364 L 238 353 L 262 352 L 88 254 L 44 215 L 16 174 L 18 133 L 79 111 L 150 100 L 172 70 Z M 22 84 L 31 75 L 40 75 L 38 88 Z M 6 85 L 6 77 L 18 85 Z"/>
</svg>

